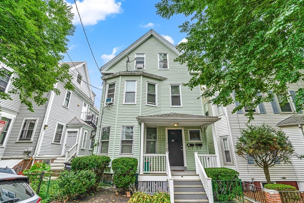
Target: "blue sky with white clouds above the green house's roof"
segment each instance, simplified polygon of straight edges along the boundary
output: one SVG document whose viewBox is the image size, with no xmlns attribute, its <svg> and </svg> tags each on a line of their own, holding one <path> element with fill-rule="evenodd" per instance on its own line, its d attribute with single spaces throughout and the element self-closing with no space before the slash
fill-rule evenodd
<svg viewBox="0 0 304 203">
<path fill-rule="evenodd" d="M 186 35 L 178 28 L 186 18 L 177 15 L 170 20 L 156 14 L 155 0 L 85 0 L 76 1 L 81 20 L 85 25 L 93 54 L 99 67 L 130 46 L 150 29 L 155 30 L 172 44 L 178 44 Z M 101 74 L 95 64 L 85 39 L 74 1 L 67 0 L 76 12 L 73 23 L 76 26 L 74 36 L 69 37 L 69 51 L 72 61 L 87 61 L 91 85 L 102 87 Z M 65 54 L 64 61 L 70 61 Z M 99 108 L 101 90 L 92 87 Z"/>
</svg>

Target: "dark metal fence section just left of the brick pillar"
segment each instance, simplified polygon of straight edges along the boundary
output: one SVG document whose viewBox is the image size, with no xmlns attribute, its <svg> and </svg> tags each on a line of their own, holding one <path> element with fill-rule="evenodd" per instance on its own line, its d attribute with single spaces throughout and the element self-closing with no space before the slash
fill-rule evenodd
<svg viewBox="0 0 304 203">
<path fill-rule="evenodd" d="M 257 202 L 267 203 L 264 188 L 242 182 L 242 190 L 245 197 L 254 199 Z"/>
</svg>

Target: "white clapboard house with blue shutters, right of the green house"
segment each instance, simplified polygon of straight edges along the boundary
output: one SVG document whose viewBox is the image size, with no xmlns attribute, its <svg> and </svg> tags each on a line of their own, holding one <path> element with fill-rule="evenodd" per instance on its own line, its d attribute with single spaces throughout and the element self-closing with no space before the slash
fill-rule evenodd
<svg viewBox="0 0 304 203">
<path fill-rule="evenodd" d="M 274 95 L 273 102 L 260 103 L 257 108 L 254 109 L 254 121 L 251 121 L 252 125 L 268 124 L 274 127 L 276 130 L 282 130 L 286 133 L 292 145 L 295 148 L 295 152 L 304 154 L 304 114 L 302 111 L 295 112 L 295 103 L 293 101 L 295 91 L 299 89 L 302 84 L 290 84 L 286 94 L 291 97 L 284 106 L 280 106 L 281 98 L 283 94 Z M 255 183 L 258 186 L 263 186 L 266 183 L 263 169 L 260 168 L 252 158 L 244 159 L 243 157 L 235 154 L 235 144 L 238 137 L 241 135 L 241 129 L 246 128 L 248 121 L 245 114 L 247 113 L 247 107 L 232 114 L 232 110 L 238 105 L 228 105 L 222 107 L 221 105 L 215 106 L 207 103 L 207 99 L 203 99 L 205 115 L 218 116 L 221 120 L 216 121 L 215 128 L 218 135 L 218 145 L 221 165 L 223 167 L 232 168 L 240 172 L 240 179 L 243 181 L 250 181 L 254 178 Z M 208 132 L 207 127 L 207 132 Z M 208 135 L 210 134 L 207 133 Z M 210 150 L 210 148 L 209 148 Z M 292 158 L 292 164 L 276 163 L 270 170 L 271 181 L 274 183 L 290 184 L 301 191 L 304 191 L 304 159 Z"/>
</svg>

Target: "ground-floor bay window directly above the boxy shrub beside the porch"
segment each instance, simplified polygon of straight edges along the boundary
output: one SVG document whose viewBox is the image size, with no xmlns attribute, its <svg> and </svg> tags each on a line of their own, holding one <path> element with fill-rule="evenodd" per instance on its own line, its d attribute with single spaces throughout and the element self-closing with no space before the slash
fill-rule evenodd
<svg viewBox="0 0 304 203">
<path fill-rule="evenodd" d="M 120 154 L 133 154 L 134 126 L 122 126 Z"/>
</svg>

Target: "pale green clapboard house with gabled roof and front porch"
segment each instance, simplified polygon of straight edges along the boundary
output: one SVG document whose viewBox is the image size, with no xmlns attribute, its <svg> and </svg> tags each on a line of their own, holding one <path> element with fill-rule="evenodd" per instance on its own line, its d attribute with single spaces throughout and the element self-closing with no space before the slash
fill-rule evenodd
<svg viewBox="0 0 304 203">
<path fill-rule="evenodd" d="M 220 118 L 203 109 L 199 86 L 183 86 L 195 73 L 174 62 L 179 55 L 150 30 L 101 67 L 95 154 L 138 159 L 139 184 L 150 192 L 169 188 L 171 202 L 191 202 L 191 195 L 195 202 L 205 202 L 208 189 L 200 176 L 204 167 L 220 166 L 213 142 L 214 122 Z M 193 184 L 198 185 L 197 196 L 180 187 Z"/>
</svg>

